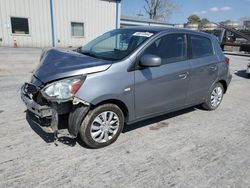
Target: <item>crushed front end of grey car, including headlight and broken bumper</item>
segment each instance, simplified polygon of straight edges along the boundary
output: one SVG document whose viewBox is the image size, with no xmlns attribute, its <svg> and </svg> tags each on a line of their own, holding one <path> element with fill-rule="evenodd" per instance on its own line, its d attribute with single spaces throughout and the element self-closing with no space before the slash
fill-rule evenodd
<svg viewBox="0 0 250 188">
<path fill-rule="evenodd" d="M 30 83 L 25 83 L 21 88 L 21 99 L 27 110 L 34 114 L 32 119 L 47 133 L 57 133 L 60 129 L 59 122 L 66 118 L 68 131 L 71 137 L 76 137 L 81 122 L 89 110 L 89 103 L 78 99 L 74 94 L 84 82 L 84 77 L 78 76 L 44 84 L 35 76 Z M 80 112 L 74 112 L 75 109 Z M 79 110 L 78 110 L 79 111 Z M 80 117 L 79 117 L 80 115 Z"/>
</svg>

